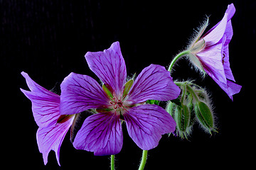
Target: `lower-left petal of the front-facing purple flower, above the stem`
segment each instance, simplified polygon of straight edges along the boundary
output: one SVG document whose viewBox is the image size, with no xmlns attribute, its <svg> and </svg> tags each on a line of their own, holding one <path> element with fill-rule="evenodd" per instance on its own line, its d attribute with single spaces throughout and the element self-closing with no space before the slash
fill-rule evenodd
<svg viewBox="0 0 256 170">
<path fill-rule="evenodd" d="M 94 152 L 97 156 L 118 154 L 123 135 L 119 115 L 97 113 L 85 119 L 73 145 L 76 149 Z"/>
</svg>

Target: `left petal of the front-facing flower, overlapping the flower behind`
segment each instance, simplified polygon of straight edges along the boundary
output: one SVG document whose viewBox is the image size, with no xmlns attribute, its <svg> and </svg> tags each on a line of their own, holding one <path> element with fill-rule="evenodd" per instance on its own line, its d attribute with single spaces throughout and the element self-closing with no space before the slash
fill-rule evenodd
<svg viewBox="0 0 256 170">
<path fill-rule="evenodd" d="M 70 73 L 60 84 L 60 114 L 72 115 L 90 108 L 105 108 L 108 98 L 100 84 L 82 74 Z"/>
</svg>

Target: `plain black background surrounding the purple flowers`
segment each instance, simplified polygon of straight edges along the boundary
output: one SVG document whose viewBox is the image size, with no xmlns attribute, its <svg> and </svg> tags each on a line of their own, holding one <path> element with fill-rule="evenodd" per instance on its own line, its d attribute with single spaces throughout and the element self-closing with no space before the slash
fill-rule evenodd
<svg viewBox="0 0 256 170">
<path fill-rule="evenodd" d="M 174 79 L 195 79 L 211 94 L 218 133 L 208 135 L 194 125 L 188 140 L 164 135 L 149 151 L 146 169 L 209 169 L 250 166 L 255 161 L 255 1 L 0 1 L 1 154 L 15 168 L 110 169 L 109 157 L 76 150 L 69 133 L 60 149 L 58 166 L 50 152 L 44 166 L 36 143 L 37 125 L 31 102 L 19 88 L 28 89 L 21 72 L 52 89 L 70 72 L 97 79 L 85 62 L 87 51 L 102 51 L 119 41 L 127 74 L 139 74 L 149 64 L 166 66 L 186 47 L 193 29 L 210 16 L 211 28 L 235 4 L 230 42 L 230 67 L 242 85 L 232 102 L 215 82 L 201 79 L 186 60 L 180 60 Z M 98 80 L 98 79 L 97 79 Z M 250 102 L 251 101 L 251 102 Z M 117 169 L 137 169 L 142 151 L 127 135 L 116 155 Z M 7 152 L 6 152 L 7 150 Z M 3 159 L 2 159 L 3 160 Z"/>
</svg>

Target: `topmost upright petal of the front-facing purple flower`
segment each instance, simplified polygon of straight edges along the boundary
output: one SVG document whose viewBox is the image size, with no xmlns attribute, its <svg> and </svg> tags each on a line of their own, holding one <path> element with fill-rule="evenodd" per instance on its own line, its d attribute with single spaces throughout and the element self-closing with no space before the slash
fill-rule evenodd
<svg viewBox="0 0 256 170">
<path fill-rule="evenodd" d="M 92 72 L 110 91 L 116 93 L 115 96 L 122 95 L 127 71 L 119 42 L 114 42 L 109 49 L 103 52 L 87 52 L 85 59 Z"/>
</svg>

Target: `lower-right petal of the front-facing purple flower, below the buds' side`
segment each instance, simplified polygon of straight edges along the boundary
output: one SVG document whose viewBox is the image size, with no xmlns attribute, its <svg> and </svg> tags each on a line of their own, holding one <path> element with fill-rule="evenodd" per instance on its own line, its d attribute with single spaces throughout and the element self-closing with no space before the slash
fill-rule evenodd
<svg viewBox="0 0 256 170">
<path fill-rule="evenodd" d="M 153 149 L 161 135 L 174 132 L 176 123 L 164 108 L 156 105 L 142 105 L 131 108 L 124 114 L 127 130 L 132 140 L 144 150 Z"/>
</svg>

